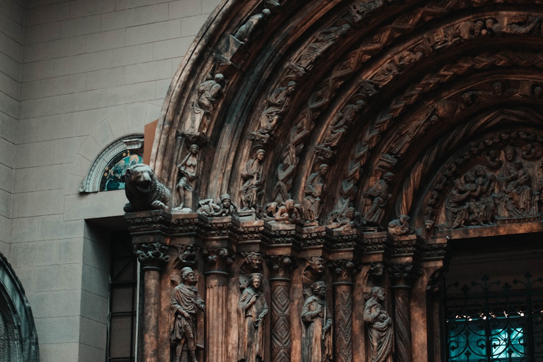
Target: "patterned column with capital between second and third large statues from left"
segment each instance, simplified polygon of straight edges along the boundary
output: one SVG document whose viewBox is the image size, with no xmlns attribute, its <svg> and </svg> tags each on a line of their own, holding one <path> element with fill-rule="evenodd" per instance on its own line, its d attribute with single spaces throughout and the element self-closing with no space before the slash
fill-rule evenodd
<svg viewBox="0 0 543 362">
<path fill-rule="evenodd" d="M 291 271 L 293 259 L 289 255 L 275 255 L 268 259 L 271 284 L 271 362 L 291 360 Z"/>
</svg>

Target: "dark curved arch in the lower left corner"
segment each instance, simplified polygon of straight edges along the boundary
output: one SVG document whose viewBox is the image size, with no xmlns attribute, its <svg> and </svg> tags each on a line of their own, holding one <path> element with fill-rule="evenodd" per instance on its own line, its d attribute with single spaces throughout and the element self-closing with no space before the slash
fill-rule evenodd
<svg viewBox="0 0 543 362">
<path fill-rule="evenodd" d="M 21 282 L 0 253 L 0 361 L 39 362 L 34 317 Z"/>
</svg>

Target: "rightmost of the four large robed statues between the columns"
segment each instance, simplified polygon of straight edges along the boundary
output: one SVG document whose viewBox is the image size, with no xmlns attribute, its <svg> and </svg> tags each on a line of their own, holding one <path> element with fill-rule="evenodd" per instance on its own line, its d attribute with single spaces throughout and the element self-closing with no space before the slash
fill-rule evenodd
<svg viewBox="0 0 543 362">
<path fill-rule="evenodd" d="M 368 326 L 371 344 L 371 362 L 383 362 L 394 352 L 394 326 L 383 307 L 383 301 L 383 288 L 371 288 L 371 297 L 364 306 L 364 322 Z"/>
</svg>

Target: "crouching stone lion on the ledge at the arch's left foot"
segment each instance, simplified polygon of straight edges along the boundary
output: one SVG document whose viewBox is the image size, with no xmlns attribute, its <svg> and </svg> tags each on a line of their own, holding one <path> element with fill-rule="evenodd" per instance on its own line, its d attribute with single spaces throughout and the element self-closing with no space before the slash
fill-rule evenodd
<svg viewBox="0 0 543 362">
<path fill-rule="evenodd" d="M 124 212 L 169 211 L 170 192 L 156 180 L 153 169 L 138 163 L 130 166 L 124 177 L 124 191 L 129 201 L 124 205 Z"/>
</svg>

